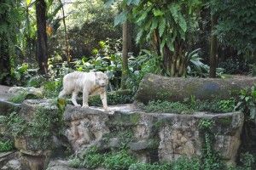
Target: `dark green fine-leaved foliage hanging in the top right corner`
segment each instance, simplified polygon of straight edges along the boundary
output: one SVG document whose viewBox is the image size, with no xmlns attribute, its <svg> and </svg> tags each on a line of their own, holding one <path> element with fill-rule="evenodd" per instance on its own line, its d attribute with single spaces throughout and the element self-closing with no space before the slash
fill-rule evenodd
<svg viewBox="0 0 256 170">
<path fill-rule="evenodd" d="M 212 0 L 210 4 L 218 13 L 218 40 L 236 48 L 239 54 L 255 57 L 255 2 Z"/>
</svg>

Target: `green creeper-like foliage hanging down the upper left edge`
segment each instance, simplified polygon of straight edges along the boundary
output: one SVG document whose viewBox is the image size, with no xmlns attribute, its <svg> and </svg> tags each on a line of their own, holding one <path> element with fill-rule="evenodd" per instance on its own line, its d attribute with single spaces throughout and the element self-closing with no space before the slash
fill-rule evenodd
<svg viewBox="0 0 256 170">
<path fill-rule="evenodd" d="M 0 2 L 0 83 L 11 83 L 11 67 L 15 60 L 15 43 L 20 24 L 20 0 Z"/>
</svg>

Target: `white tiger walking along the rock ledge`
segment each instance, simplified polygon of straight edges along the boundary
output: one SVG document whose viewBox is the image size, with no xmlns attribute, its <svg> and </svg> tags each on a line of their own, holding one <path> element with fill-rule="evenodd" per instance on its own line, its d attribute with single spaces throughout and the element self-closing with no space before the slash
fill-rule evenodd
<svg viewBox="0 0 256 170">
<path fill-rule="evenodd" d="M 63 78 L 63 90 L 59 94 L 62 98 L 66 94 L 72 94 L 72 103 L 79 106 L 77 96 L 79 92 L 83 93 L 83 106 L 89 107 L 89 95 L 100 94 L 104 110 L 108 110 L 106 86 L 108 85 L 108 76 L 101 71 L 97 72 L 79 72 L 74 71 Z"/>
</svg>

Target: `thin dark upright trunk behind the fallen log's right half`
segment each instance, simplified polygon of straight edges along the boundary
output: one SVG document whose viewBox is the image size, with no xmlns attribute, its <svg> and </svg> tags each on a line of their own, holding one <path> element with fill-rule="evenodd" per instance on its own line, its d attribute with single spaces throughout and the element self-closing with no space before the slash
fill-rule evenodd
<svg viewBox="0 0 256 170">
<path fill-rule="evenodd" d="M 213 35 L 214 27 L 217 25 L 218 17 L 216 14 L 211 16 L 212 24 L 212 35 L 211 35 L 211 51 L 210 51 L 210 77 L 216 77 L 216 67 L 217 67 L 217 54 L 218 54 L 218 42 L 217 36 Z"/>
</svg>

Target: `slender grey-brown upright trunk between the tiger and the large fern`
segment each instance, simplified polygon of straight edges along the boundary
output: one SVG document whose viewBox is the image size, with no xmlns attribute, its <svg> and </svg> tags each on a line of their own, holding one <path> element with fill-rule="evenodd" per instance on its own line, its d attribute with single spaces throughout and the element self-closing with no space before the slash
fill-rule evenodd
<svg viewBox="0 0 256 170">
<path fill-rule="evenodd" d="M 123 49 L 122 49 L 122 77 L 121 89 L 125 89 L 125 82 L 128 77 L 128 21 L 123 24 Z"/>
</svg>

